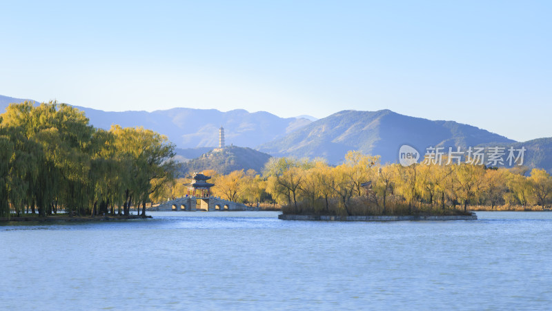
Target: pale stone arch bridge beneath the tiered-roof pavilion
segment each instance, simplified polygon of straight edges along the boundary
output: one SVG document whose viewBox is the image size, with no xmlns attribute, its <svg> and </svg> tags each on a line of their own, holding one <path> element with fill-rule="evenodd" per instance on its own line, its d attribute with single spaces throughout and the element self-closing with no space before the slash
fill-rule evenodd
<svg viewBox="0 0 552 311">
<path fill-rule="evenodd" d="M 174 200 L 168 200 L 167 202 L 159 204 L 157 207 L 153 207 L 156 211 L 253 211 L 257 210 L 255 207 L 248 207 L 242 203 L 232 202 L 217 198 L 215 196 L 209 197 L 195 197 L 184 196 L 181 198 L 175 198 Z"/>
</svg>

